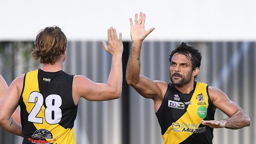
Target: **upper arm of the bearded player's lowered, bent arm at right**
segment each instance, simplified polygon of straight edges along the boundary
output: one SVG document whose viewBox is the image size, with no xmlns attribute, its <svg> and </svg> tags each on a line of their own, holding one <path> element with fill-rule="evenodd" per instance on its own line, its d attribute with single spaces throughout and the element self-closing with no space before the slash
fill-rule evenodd
<svg viewBox="0 0 256 144">
<path fill-rule="evenodd" d="M 223 111 L 223 113 L 225 113 L 229 117 L 235 114 L 237 111 L 243 112 L 241 107 L 239 107 L 236 103 L 232 102 L 223 91 L 215 87 L 208 87 L 208 92 L 213 105 Z"/>
</svg>

